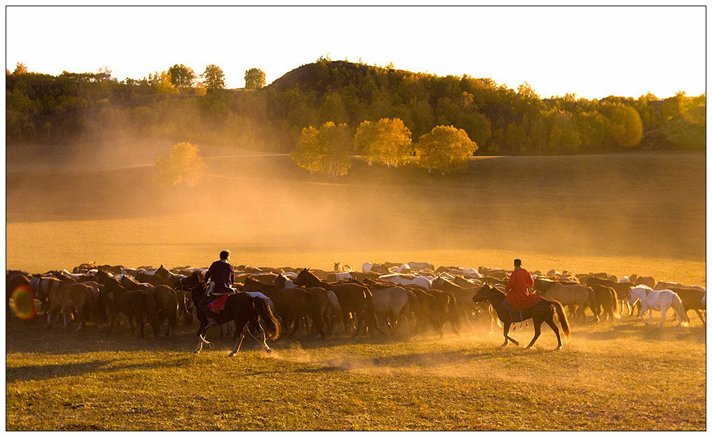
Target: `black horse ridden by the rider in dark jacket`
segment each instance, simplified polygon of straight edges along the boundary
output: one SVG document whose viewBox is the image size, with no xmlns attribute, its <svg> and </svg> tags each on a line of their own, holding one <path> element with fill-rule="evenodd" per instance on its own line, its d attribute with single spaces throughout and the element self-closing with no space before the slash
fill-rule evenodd
<svg viewBox="0 0 712 437">
<path fill-rule="evenodd" d="M 191 290 L 193 305 L 195 305 L 198 320 L 200 320 L 200 328 L 196 335 L 200 339 L 198 346 L 195 348 L 195 353 L 198 354 L 203 349 L 203 344 L 207 344 L 211 349 L 214 345 L 207 341 L 204 337 L 208 328 L 208 317 L 199 309 L 198 305 L 201 298 L 207 291 L 207 284 L 197 283 Z M 279 322 L 274 317 L 266 300 L 262 298 L 253 298 L 247 293 L 237 293 L 229 295 L 225 301 L 225 307 L 219 313 L 213 315 L 213 319 L 218 325 L 223 325 L 227 322 L 235 322 L 236 332 L 240 332 L 240 337 L 235 342 L 235 347 L 228 355 L 232 357 L 240 350 L 242 340 L 245 338 L 245 330 L 247 324 L 251 323 L 257 326 L 262 332 L 262 344 L 267 353 L 271 353 L 272 349 L 267 345 L 267 339 L 277 339 L 279 337 Z M 260 324 L 262 320 L 266 330 Z M 249 331 L 248 331 L 249 332 Z M 252 335 L 250 333 L 250 335 Z M 259 341 L 259 340 L 258 340 Z"/>
</svg>

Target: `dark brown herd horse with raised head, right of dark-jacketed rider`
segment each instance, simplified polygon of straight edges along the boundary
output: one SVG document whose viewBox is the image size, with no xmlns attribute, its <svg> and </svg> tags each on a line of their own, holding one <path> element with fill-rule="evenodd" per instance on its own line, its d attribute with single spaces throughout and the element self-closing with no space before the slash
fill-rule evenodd
<svg viewBox="0 0 712 437">
<path fill-rule="evenodd" d="M 356 337 L 361 331 L 365 333 L 367 330 L 376 330 L 379 334 L 384 335 L 384 332 L 376 323 L 373 295 L 371 294 L 371 290 L 364 285 L 355 283 L 327 283 L 317 278 L 308 268 L 301 270 L 292 282 L 298 286 L 321 287 L 325 290 L 333 291 L 343 311 L 344 326 L 350 326 L 350 320 L 347 319 L 350 314 L 356 315 L 357 317 L 358 325 L 352 337 Z"/>
</svg>

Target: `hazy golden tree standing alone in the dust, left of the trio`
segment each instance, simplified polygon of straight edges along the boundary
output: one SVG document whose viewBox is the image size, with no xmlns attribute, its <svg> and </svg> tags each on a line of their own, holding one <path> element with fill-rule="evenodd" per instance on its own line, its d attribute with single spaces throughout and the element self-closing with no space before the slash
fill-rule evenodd
<svg viewBox="0 0 712 437">
<path fill-rule="evenodd" d="M 203 177 L 205 162 L 200 157 L 198 147 L 181 142 L 174 145 L 168 158 L 159 157 L 156 160 L 156 170 L 153 180 L 161 186 L 195 186 Z"/>
</svg>

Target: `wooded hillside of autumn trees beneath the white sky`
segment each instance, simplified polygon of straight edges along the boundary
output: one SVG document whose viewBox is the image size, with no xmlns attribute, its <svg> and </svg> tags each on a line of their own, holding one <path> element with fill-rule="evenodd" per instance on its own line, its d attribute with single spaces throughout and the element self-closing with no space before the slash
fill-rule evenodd
<svg viewBox="0 0 712 437">
<path fill-rule="evenodd" d="M 108 70 L 52 76 L 30 73 L 19 64 L 12 73 L 6 70 L 6 142 L 59 147 L 120 130 L 177 142 L 292 152 L 298 162 L 306 162 L 298 157 L 307 144 L 321 147 L 312 151 L 318 156 L 331 150 L 318 145 L 320 141 L 328 143 L 325 138 L 335 135 L 343 139 L 333 146 L 339 154 L 362 154 L 386 165 L 404 164 L 407 155 L 425 167 L 436 161 L 429 141 L 451 131 L 449 127 L 473 145 L 448 149 L 469 149 L 471 154 L 706 147 L 705 94 L 677 93 L 662 100 L 650 93 L 639 98 L 587 100 L 567 94 L 543 99 L 527 83 L 513 90 L 488 78 L 441 77 L 324 57 L 269 86 L 258 68 L 247 70 L 245 80 L 246 88 L 226 90 L 218 65 L 196 75 L 176 64 L 141 80 L 119 81 Z M 389 140 L 374 132 L 383 133 L 394 122 L 400 133 L 388 134 L 396 142 L 388 147 L 400 147 L 402 153 L 386 159 L 382 149 Z M 406 130 L 411 138 L 407 147 L 399 142 Z M 459 135 L 452 137 L 456 144 L 461 144 Z M 428 168 L 457 171 L 456 161 Z M 323 163 L 306 168 L 333 175 L 342 172 L 337 167 Z"/>
</svg>

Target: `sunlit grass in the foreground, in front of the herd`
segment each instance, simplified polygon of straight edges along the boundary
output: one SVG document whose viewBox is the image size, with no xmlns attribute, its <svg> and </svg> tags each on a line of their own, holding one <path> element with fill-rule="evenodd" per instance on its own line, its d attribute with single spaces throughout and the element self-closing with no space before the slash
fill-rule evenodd
<svg viewBox="0 0 712 437">
<path fill-rule="evenodd" d="M 691 315 L 693 312 L 691 312 Z M 671 314 L 670 314 L 671 315 Z M 654 322 L 659 322 L 659 313 Z M 484 327 L 411 341 L 229 339 L 192 353 L 175 339 L 6 328 L 6 429 L 697 430 L 706 429 L 706 335 L 638 318 L 573 325 L 559 352 L 548 327 L 525 350 Z M 528 341 L 531 327 L 513 337 Z"/>
</svg>

